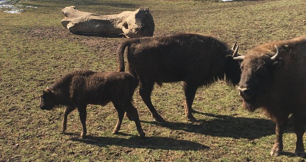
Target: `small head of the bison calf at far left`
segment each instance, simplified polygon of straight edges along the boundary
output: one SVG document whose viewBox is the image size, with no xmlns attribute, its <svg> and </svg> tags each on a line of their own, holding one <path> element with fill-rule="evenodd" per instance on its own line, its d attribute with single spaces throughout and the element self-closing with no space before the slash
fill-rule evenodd
<svg viewBox="0 0 306 162">
<path fill-rule="evenodd" d="M 42 90 L 42 95 L 39 98 L 39 107 L 41 110 L 51 110 L 55 104 L 55 96 L 49 87 Z"/>
</svg>

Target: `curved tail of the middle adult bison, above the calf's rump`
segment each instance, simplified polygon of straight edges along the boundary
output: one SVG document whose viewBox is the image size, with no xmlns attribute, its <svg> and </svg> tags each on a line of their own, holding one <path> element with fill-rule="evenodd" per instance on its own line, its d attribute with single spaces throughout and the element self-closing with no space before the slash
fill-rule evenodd
<svg viewBox="0 0 306 162">
<path fill-rule="evenodd" d="M 118 72 L 124 72 L 124 69 L 125 69 L 124 68 L 124 58 L 123 58 L 125 47 L 130 46 L 131 44 L 139 42 L 139 41 L 140 39 L 129 39 L 129 40 L 123 40 L 121 42 L 118 48 L 118 51 L 117 51 L 117 62 L 119 64 Z"/>
</svg>

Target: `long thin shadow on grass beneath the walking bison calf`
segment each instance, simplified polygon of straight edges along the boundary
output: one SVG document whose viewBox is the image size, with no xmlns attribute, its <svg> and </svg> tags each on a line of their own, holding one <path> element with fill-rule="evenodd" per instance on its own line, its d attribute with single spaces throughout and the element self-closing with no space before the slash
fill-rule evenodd
<svg viewBox="0 0 306 162">
<path fill-rule="evenodd" d="M 161 150 L 202 150 L 209 149 L 208 146 L 187 140 L 178 140 L 167 137 L 145 137 L 132 136 L 131 138 L 96 137 L 87 136 L 86 139 L 71 138 L 72 141 L 82 142 L 99 147 L 108 145 L 123 146 L 130 148 L 151 148 Z"/>
</svg>

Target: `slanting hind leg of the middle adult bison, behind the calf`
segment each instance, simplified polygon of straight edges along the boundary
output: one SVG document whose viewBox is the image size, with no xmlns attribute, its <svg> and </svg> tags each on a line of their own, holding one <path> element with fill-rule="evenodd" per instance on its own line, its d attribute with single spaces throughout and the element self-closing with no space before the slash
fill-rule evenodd
<svg viewBox="0 0 306 162">
<path fill-rule="evenodd" d="M 152 117 L 155 119 L 157 122 L 164 122 L 162 117 L 157 113 L 155 110 L 152 101 L 151 101 L 151 93 L 153 89 L 154 83 L 148 83 L 145 81 L 140 82 L 140 87 L 139 87 L 139 94 L 141 98 L 144 100 L 145 104 L 149 108 Z"/>
</svg>

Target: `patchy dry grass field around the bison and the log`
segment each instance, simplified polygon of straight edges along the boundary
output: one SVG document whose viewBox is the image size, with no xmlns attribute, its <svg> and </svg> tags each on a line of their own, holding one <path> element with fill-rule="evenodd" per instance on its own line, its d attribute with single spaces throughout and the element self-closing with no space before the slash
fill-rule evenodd
<svg viewBox="0 0 306 162">
<path fill-rule="evenodd" d="M 116 49 L 123 38 L 77 36 L 61 25 L 61 9 L 115 14 L 150 7 L 155 36 L 177 32 L 211 34 L 239 53 L 258 44 L 306 35 L 306 0 L 20 0 L 20 14 L 0 8 L 0 161 L 217 161 L 302 162 L 294 157 L 296 136 L 284 134 L 284 155 L 270 157 L 275 124 L 261 111 L 248 113 L 235 87 L 218 81 L 198 89 L 193 104 L 198 122 L 184 115 L 182 83 L 155 86 L 153 105 L 167 121 L 153 122 L 134 95 L 147 137 L 124 118 L 121 133 L 113 104 L 87 107 L 88 139 L 79 137 L 78 113 L 68 117 L 61 134 L 63 108 L 39 109 L 41 90 L 75 69 L 116 70 Z M 306 136 L 304 136 L 304 141 Z"/>
</svg>

